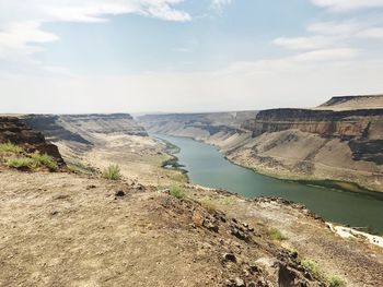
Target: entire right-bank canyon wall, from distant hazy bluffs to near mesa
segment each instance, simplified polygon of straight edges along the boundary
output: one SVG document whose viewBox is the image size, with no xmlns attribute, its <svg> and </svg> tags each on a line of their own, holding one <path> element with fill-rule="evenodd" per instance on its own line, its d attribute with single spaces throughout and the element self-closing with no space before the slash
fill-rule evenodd
<svg viewBox="0 0 383 287">
<path fill-rule="evenodd" d="M 253 116 L 246 112 L 247 118 L 222 124 L 206 115 L 147 116 L 140 121 L 149 132 L 214 144 L 230 160 L 263 174 L 353 182 L 383 191 L 382 99 L 334 97 L 313 109 L 270 109 L 254 111 Z"/>
</svg>

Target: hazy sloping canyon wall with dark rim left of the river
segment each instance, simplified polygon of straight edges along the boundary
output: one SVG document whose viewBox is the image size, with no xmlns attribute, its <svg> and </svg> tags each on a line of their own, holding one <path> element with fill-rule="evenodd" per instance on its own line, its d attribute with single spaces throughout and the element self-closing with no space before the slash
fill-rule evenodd
<svg viewBox="0 0 383 287">
<path fill-rule="evenodd" d="M 45 134 L 58 146 L 68 165 L 82 171 L 94 171 L 111 163 L 121 166 L 130 163 L 131 157 L 129 160 L 126 157 L 141 156 L 142 143 L 152 141 L 128 113 L 25 115 L 21 120 Z M 129 146 L 124 157 L 121 147 L 115 147 L 121 143 Z M 112 159 L 115 150 L 118 156 Z"/>
</svg>

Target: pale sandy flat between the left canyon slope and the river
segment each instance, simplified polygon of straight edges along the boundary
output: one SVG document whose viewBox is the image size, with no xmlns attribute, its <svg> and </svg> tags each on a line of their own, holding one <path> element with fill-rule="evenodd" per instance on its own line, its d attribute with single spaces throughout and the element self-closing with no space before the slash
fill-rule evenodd
<svg viewBox="0 0 383 287">
<path fill-rule="evenodd" d="M 94 146 L 78 154 L 73 154 L 73 151 L 79 151 L 79 146 L 68 148 L 68 142 L 56 144 L 69 163 L 77 158 L 79 163 L 100 170 L 111 164 L 117 164 L 125 177 L 144 184 L 165 186 L 187 180 L 179 170 L 162 168 L 162 164 L 171 156 L 166 153 L 165 146 L 152 137 L 93 133 L 92 139 Z"/>
</svg>

